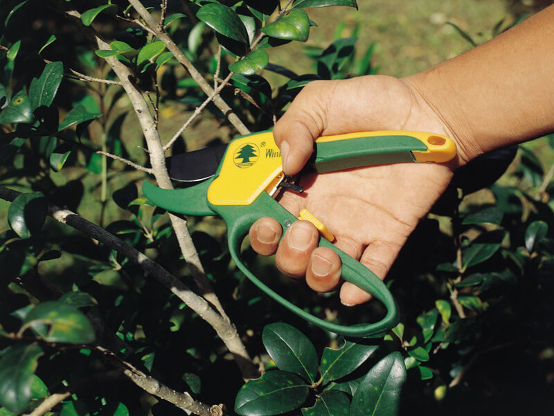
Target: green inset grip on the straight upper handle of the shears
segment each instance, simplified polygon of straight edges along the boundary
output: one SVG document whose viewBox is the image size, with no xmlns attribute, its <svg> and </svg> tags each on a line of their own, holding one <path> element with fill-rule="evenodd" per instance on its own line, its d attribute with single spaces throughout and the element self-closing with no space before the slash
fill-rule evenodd
<svg viewBox="0 0 554 416">
<path fill-rule="evenodd" d="M 312 162 L 318 173 L 377 164 L 415 162 L 412 151 L 425 151 L 422 141 L 408 135 L 357 137 L 315 144 Z"/>
</svg>

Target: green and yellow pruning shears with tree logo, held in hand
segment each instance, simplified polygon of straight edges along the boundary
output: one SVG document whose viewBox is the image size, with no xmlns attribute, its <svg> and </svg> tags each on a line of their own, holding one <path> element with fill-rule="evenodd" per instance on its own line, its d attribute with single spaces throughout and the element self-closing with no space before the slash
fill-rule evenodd
<svg viewBox="0 0 554 416">
<path fill-rule="evenodd" d="M 425 132 L 380 131 L 325 136 L 316 139 L 310 162 L 317 173 L 361 166 L 404 162 L 448 162 L 456 155 L 454 141 Z M 225 148 L 206 148 L 168 158 L 170 176 L 192 187 L 167 190 L 144 182 L 143 192 L 155 205 L 193 216 L 221 216 L 228 227 L 231 257 L 258 288 L 301 318 L 344 336 L 375 336 L 399 320 L 391 292 L 371 270 L 332 244 L 332 234 L 310 213 L 296 218 L 274 199 L 282 189 L 303 191 L 283 173 L 280 150 L 271 131 L 233 139 Z M 262 216 L 278 220 L 283 229 L 298 219 L 310 220 L 320 231 L 319 246 L 331 248 L 342 261 L 345 281 L 371 293 L 386 306 L 382 320 L 350 327 L 327 322 L 278 295 L 249 270 L 240 245 L 251 225 Z"/>
</svg>

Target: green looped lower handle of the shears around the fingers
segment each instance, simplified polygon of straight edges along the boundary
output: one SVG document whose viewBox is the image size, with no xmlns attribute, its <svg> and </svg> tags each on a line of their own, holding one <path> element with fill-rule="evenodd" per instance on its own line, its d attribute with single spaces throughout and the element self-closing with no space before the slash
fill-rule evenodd
<svg viewBox="0 0 554 416">
<path fill-rule="evenodd" d="M 244 237 L 248 234 L 249 229 L 253 223 L 262 216 L 271 216 L 278 220 L 278 222 L 286 229 L 287 225 L 290 225 L 298 218 L 289 213 L 285 208 L 281 207 L 276 200 L 271 198 L 267 193 L 262 192 L 258 198 L 247 207 L 237 206 L 211 206 L 213 211 L 217 211 L 229 226 L 228 239 L 229 239 L 229 251 L 231 257 L 237 264 L 238 268 L 246 275 L 258 288 L 264 291 L 272 299 L 276 300 L 289 311 L 296 313 L 296 315 L 312 322 L 318 327 L 326 329 L 328 331 L 338 333 L 343 336 L 352 337 L 365 337 L 365 336 L 377 336 L 388 329 L 396 326 L 399 321 L 399 313 L 396 302 L 393 295 L 385 284 L 375 275 L 371 270 L 363 266 L 359 261 L 352 259 L 348 254 L 339 250 L 327 240 L 319 239 L 319 245 L 331 248 L 337 254 L 342 261 L 342 277 L 346 281 L 359 286 L 371 293 L 380 302 L 384 304 L 387 309 L 386 316 L 379 322 L 372 324 L 357 324 L 350 327 L 346 327 L 332 322 L 327 322 L 320 318 L 317 318 L 310 313 L 307 313 L 303 309 L 299 308 L 295 304 L 292 304 L 284 297 L 278 295 L 275 291 L 271 290 L 266 284 L 252 274 L 249 268 L 244 264 L 240 257 L 240 245 L 244 240 Z"/>
</svg>

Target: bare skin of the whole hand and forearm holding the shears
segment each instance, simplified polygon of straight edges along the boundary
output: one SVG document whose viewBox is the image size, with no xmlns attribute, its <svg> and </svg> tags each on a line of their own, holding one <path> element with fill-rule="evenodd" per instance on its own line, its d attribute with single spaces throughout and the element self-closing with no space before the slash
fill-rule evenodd
<svg viewBox="0 0 554 416">
<path fill-rule="evenodd" d="M 419 220 L 445 191 L 453 171 L 494 148 L 554 131 L 554 7 L 452 60 L 403 79 L 364 76 L 307 85 L 276 123 L 274 137 L 287 175 L 301 171 L 314 140 L 366 130 L 415 130 L 451 137 L 458 157 L 448 165 L 394 164 L 309 174 L 305 192 L 280 203 L 298 216 L 308 209 L 344 252 L 384 279 Z M 314 291 L 341 284 L 341 262 L 317 248 L 319 234 L 306 221 L 285 233 L 273 218 L 250 229 L 251 245 L 276 254 L 276 265 Z M 348 306 L 371 295 L 348 282 Z"/>
</svg>

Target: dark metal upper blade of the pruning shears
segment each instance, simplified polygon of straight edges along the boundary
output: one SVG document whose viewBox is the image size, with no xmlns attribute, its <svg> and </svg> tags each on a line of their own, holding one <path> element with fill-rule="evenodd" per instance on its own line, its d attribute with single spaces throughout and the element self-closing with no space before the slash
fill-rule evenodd
<svg viewBox="0 0 554 416">
<path fill-rule="evenodd" d="M 166 158 L 169 176 L 181 182 L 199 182 L 212 177 L 220 166 L 226 144 Z"/>
</svg>

